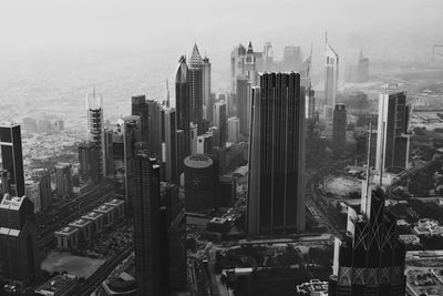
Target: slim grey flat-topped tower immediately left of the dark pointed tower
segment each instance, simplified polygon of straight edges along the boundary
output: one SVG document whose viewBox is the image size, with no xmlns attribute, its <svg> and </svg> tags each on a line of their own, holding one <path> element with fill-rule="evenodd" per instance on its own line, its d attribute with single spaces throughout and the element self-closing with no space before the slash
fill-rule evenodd
<svg viewBox="0 0 443 296">
<path fill-rule="evenodd" d="M 162 110 L 162 162 L 165 166 L 165 181 L 178 184 L 177 127 L 174 108 L 164 108 Z"/>
</svg>

